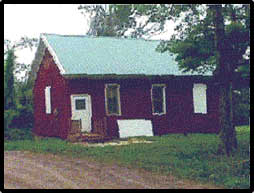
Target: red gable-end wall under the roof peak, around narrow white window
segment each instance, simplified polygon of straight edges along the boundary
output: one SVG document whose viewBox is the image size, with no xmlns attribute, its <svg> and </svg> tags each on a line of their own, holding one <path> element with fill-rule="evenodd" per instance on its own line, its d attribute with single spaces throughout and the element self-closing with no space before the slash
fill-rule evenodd
<svg viewBox="0 0 254 193">
<path fill-rule="evenodd" d="M 46 86 L 51 86 L 51 114 L 46 114 Z M 34 85 L 34 133 L 42 136 L 66 138 L 68 117 L 66 81 L 60 74 L 48 50 L 42 60 Z"/>
</svg>

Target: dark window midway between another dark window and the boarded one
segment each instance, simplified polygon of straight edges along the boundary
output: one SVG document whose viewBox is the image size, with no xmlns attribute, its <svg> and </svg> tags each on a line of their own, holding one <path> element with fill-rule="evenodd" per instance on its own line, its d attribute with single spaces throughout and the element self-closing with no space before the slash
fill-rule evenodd
<svg viewBox="0 0 254 193">
<path fill-rule="evenodd" d="M 152 85 L 152 112 L 153 114 L 166 113 L 165 88 L 163 84 Z"/>
</svg>

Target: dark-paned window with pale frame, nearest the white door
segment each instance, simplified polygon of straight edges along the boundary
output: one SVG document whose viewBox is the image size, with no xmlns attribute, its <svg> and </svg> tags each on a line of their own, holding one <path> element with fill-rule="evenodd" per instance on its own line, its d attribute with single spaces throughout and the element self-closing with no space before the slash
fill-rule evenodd
<svg viewBox="0 0 254 193">
<path fill-rule="evenodd" d="M 106 84 L 106 113 L 107 115 L 120 115 L 120 86 L 117 84 Z"/>
</svg>

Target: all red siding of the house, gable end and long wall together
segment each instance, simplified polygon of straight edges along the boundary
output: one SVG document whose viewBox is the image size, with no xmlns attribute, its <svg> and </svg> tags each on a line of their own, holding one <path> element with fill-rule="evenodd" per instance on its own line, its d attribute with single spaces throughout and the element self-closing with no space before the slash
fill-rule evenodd
<svg viewBox="0 0 254 193">
<path fill-rule="evenodd" d="M 120 85 L 121 116 L 106 116 L 105 84 Z M 166 85 L 166 114 L 152 115 L 152 84 Z M 45 113 L 44 89 L 51 86 L 51 114 Z M 65 79 L 46 50 L 34 86 L 34 132 L 43 136 L 66 138 L 70 130 L 71 94 L 89 94 L 93 120 L 107 117 L 107 135 L 119 137 L 117 119 L 152 120 L 154 134 L 218 132 L 218 93 L 207 86 L 207 114 L 194 114 L 193 81 L 185 80 L 91 80 Z M 57 109 L 58 114 L 53 112 Z"/>
</svg>

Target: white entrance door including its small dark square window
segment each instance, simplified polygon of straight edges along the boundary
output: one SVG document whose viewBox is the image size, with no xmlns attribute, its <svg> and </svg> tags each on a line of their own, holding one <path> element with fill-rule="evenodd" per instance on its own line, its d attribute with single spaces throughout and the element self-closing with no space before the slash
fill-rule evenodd
<svg viewBox="0 0 254 193">
<path fill-rule="evenodd" d="M 71 95 L 72 120 L 81 119 L 81 131 L 90 132 L 91 127 L 91 97 L 87 94 Z"/>
</svg>

